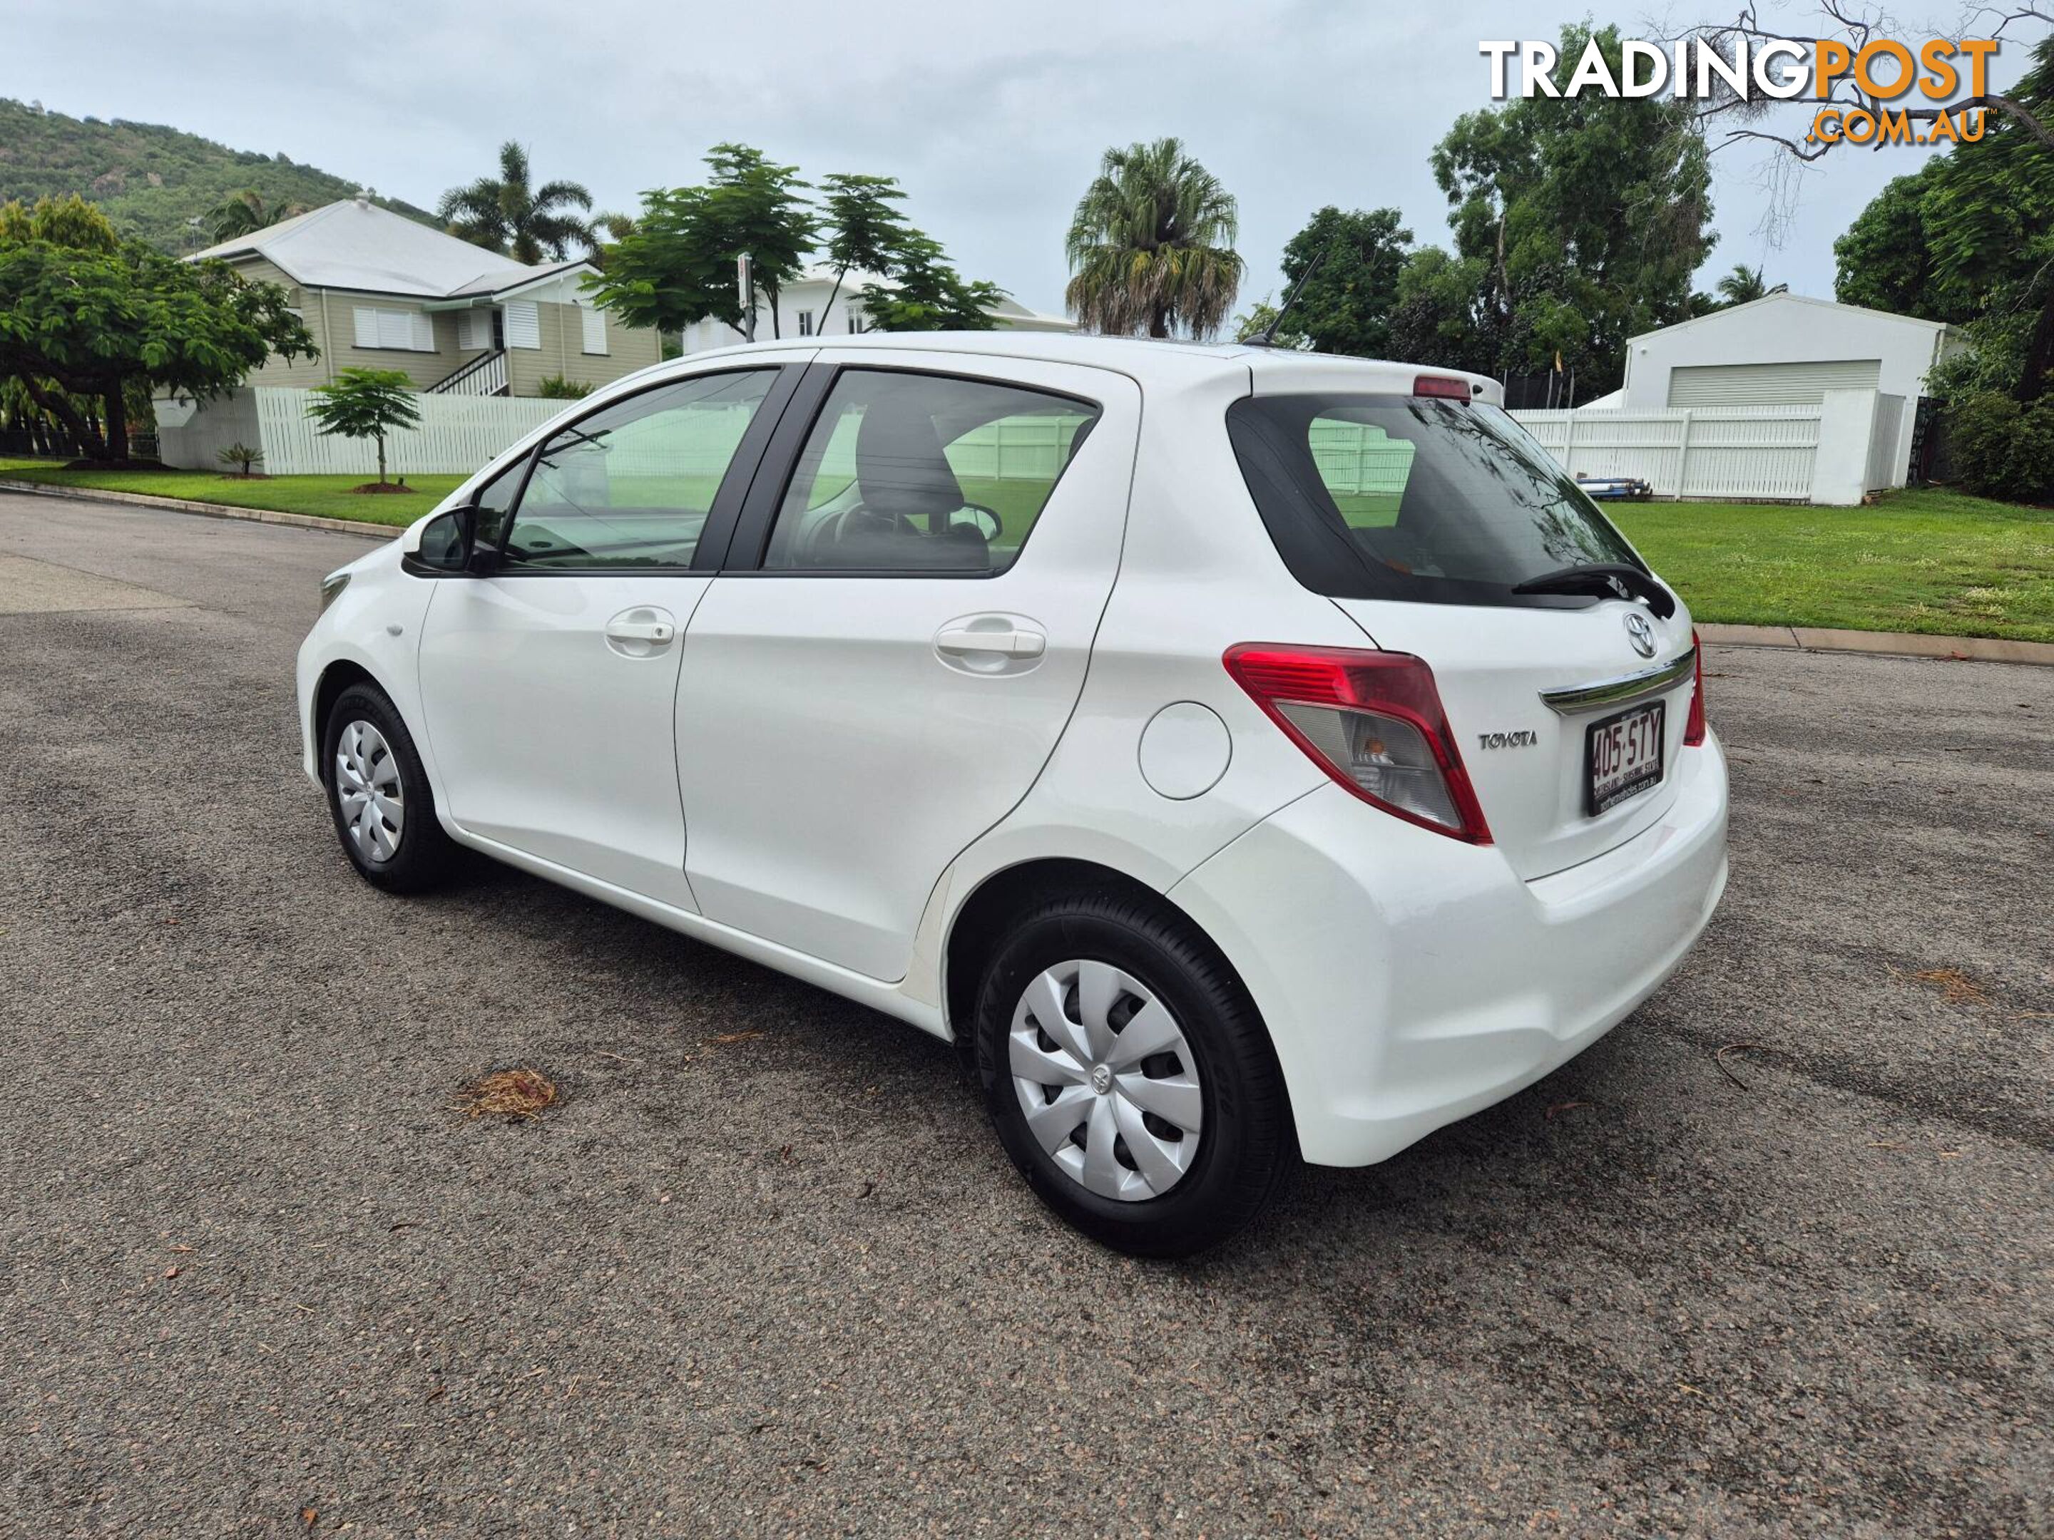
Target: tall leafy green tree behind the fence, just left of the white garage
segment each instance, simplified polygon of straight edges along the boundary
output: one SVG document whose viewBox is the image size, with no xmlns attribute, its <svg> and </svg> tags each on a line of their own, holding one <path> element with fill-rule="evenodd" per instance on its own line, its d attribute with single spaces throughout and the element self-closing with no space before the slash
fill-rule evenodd
<svg viewBox="0 0 2054 1540">
<path fill-rule="evenodd" d="M 1616 78 L 1616 27 L 1565 27 L 1561 57 L 1580 57 L 1592 37 Z M 1629 337 L 1690 314 L 1690 275 L 1715 240 L 1697 127 L 1688 103 L 1596 92 L 1518 99 L 1454 121 L 1432 164 L 1454 257 L 1479 279 L 1489 374 L 1551 368 L 1561 355 L 1592 390 L 1610 390 Z"/>
</svg>

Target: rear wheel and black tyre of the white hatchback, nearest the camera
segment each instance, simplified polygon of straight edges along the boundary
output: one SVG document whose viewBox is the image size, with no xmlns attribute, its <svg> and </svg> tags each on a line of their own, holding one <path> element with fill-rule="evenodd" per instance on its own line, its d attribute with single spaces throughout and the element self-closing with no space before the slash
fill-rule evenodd
<svg viewBox="0 0 2054 1540">
<path fill-rule="evenodd" d="M 1043 1203 L 1138 1257 L 1234 1234 L 1298 1164 L 1269 1033 L 1224 959 L 1140 899 L 1052 899 L 984 971 L 978 1078 Z"/>
</svg>

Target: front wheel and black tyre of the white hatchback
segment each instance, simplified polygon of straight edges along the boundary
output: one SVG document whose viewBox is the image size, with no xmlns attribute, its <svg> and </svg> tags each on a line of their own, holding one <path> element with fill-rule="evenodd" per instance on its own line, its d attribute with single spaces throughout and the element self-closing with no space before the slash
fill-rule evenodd
<svg viewBox="0 0 2054 1540">
<path fill-rule="evenodd" d="M 320 733 L 320 780 L 343 854 L 366 883 L 419 893 L 448 877 L 456 846 L 435 821 L 435 795 L 413 733 L 384 692 L 353 684 Z"/>
</svg>

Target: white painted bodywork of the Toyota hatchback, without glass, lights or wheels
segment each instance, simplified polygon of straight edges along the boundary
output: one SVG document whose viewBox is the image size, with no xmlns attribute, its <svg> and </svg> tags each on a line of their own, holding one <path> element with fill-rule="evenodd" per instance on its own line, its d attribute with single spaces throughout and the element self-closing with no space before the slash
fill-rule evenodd
<svg viewBox="0 0 2054 1540">
<path fill-rule="evenodd" d="M 1547 1074 L 1703 930 L 1725 881 L 1725 762 L 1715 737 L 1682 747 L 1690 684 L 1666 696 L 1662 784 L 1596 819 L 1573 807 L 1592 719 L 1538 698 L 1682 653 L 1684 612 L 1641 659 L 1621 624 L 1639 606 L 1329 600 L 1271 544 L 1226 407 L 1337 384 L 1403 394 L 1421 370 L 1023 333 L 863 337 L 694 355 L 569 411 L 739 355 L 1041 384 L 1105 417 L 998 577 L 606 575 L 544 595 L 405 573 L 423 519 L 351 565 L 302 647 L 308 774 L 325 673 L 362 669 L 413 725 L 460 842 L 941 1037 L 963 1029 L 947 1008 L 951 926 L 990 879 L 1041 860 L 1111 869 L 1167 895 L 1234 965 L 1300 1148 L 1329 1164 L 1380 1160 Z M 1491 382 L 1471 388 L 1497 398 Z M 598 637 L 637 606 L 676 616 L 665 655 L 620 657 Z M 969 616 L 1033 622 L 1048 653 L 994 678 L 953 671 L 933 639 Z M 1337 786 L 1226 673 L 1237 643 L 1423 657 L 1497 842 Z M 1185 721 L 1202 708 L 1222 725 L 1220 762 L 1179 766 L 1214 749 L 1206 733 L 1175 739 L 1173 770 L 1202 791 L 1165 795 L 1142 739 L 1181 702 Z M 1477 745 L 1506 731 L 1534 741 Z"/>
</svg>

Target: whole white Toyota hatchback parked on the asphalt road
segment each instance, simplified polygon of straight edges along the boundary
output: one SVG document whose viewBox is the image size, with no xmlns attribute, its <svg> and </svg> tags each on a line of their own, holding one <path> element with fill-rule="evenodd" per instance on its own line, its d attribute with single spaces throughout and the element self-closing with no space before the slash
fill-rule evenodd
<svg viewBox="0 0 2054 1540">
<path fill-rule="evenodd" d="M 1489 380 L 1023 335 L 618 382 L 327 579 L 306 772 L 959 1041 L 1177 1255 L 1588 1047 L 1725 883 L 1676 595 Z"/>
</svg>

